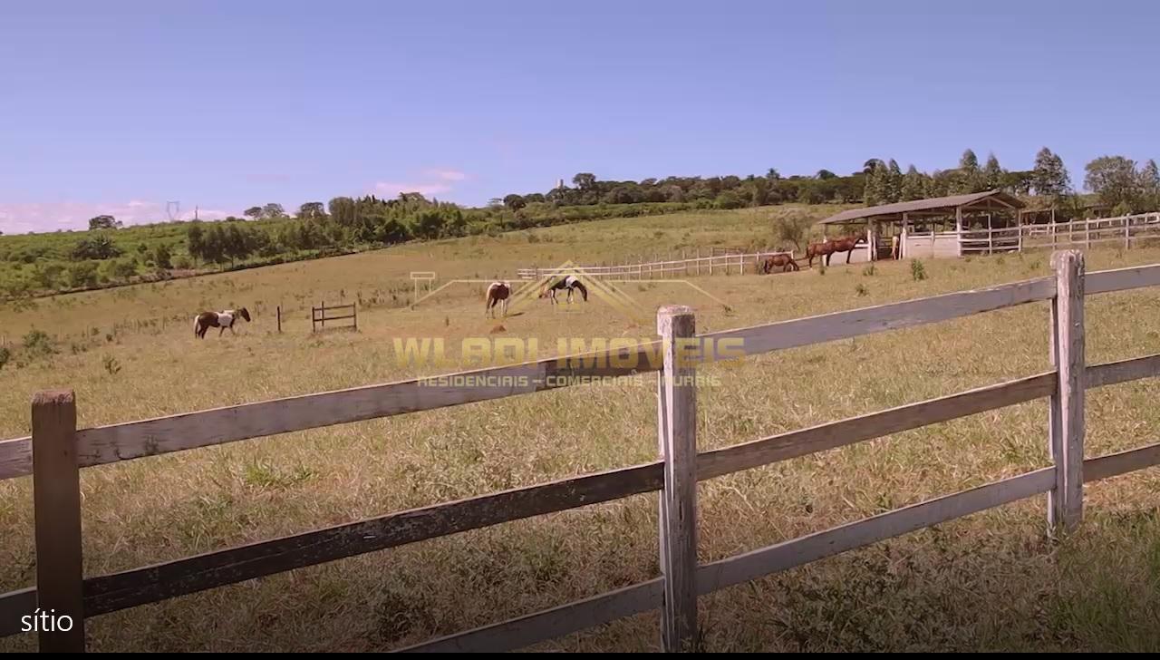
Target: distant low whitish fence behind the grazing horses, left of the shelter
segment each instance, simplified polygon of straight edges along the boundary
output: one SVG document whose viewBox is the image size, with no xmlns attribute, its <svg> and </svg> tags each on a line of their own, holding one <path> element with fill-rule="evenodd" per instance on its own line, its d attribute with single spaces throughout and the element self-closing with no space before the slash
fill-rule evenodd
<svg viewBox="0 0 1160 660">
<path fill-rule="evenodd" d="M 746 268 L 749 269 L 749 273 L 760 273 L 761 262 L 767 256 L 775 254 L 793 256 L 792 252 L 781 251 L 752 253 L 724 252 L 710 256 L 645 261 L 639 263 L 625 262 L 558 268 L 520 268 L 516 270 L 516 277 L 520 280 L 539 280 L 542 277 L 563 277 L 578 273 L 592 277 L 608 277 L 611 280 L 665 280 L 674 275 L 745 275 Z"/>
</svg>

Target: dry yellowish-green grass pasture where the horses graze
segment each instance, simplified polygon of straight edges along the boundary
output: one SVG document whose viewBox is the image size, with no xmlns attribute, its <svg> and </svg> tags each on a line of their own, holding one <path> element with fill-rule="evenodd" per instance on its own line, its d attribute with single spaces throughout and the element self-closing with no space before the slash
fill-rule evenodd
<svg viewBox="0 0 1160 660">
<path fill-rule="evenodd" d="M 37 390 L 77 391 L 82 427 L 390 382 L 392 339 L 650 336 L 597 300 L 484 318 L 485 284 L 409 309 L 411 270 L 512 277 L 565 260 L 769 238 L 768 211 L 592 222 L 408 246 L 0 310 L 0 437 L 28 433 Z M 1088 270 L 1160 262 L 1093 251 Z M 632 282 L 640 305 L 681 303 L 698 332 L 1047 275 L 1049 255 L 838 266 L 774 276 Z M 358 333 L 312 335 L 310 306 L 361 300 Z M 193 336 L 201 309 L 246 305 L 238 336 Z M 284 332 L 275 332 L 282 305 Z M 1050 369 L 1046 304 L 710 367 L 698 444 L 724 447 Z M 1160 349 L 1153 290 L 1087 300 L 1089 363 Z M 45 338 L 21 348 L 30 331 Z M 16 362 L 23 365 L 17 368 Z M 445 368 L 428 367 L 423 372 Z M 1160 383 L 1088 393 L 1087 454 L 1154 442 Z M 654 384 L 588 386 L 87 469 L 85 572 L 95 575 L 473 494 L 653 460 Z M 1049 464 L 1046 401 L 1013 406 L 699 485 L 701 560 L 724 558 Z M 1032 498 L 701 599 L 712 651 L 1160 648 L 1160 474 L 1089 485 L 1085 523 L 1044 538 Z M 0 590 L 35 580 L 31 483 L 0 483 Z M 224 587 L 88 622 L 89 647 L 390 650 L 658 575 L 655 495 L 537 517 Z M 657 615 L 544 644 L 650 651 Z M 35 648 L 31 634 L 0 651 Z"/>
</svg>

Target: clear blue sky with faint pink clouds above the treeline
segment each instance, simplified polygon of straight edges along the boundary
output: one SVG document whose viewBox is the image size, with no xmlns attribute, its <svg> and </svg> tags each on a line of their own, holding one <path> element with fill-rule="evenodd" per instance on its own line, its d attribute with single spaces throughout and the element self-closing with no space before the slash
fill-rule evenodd
<svg viewBox="0 0 1160 660">
<path fill-rule="evenodd" d="M 0 231 L 558 179 L 1160 158 L 1160 6 L 0 3 Z"/>
</svg>

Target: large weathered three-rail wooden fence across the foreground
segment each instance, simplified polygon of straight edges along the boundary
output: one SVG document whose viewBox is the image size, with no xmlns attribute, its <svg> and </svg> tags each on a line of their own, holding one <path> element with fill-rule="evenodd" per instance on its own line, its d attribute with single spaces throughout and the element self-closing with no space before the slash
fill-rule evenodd
<svg viewBox="0 0 1160 660">
<path fill-rule="evenodd" d="M 1081 521 L 1085 483 L 1160 464 L 1160 443 L 1096 458 L 1083 456 L 1086 391 L 1160 375 L 1160 354 L 1087 364 L 1085 297 L 1160 285 L 1160 266 L 1085 274 L 1083 256 L 1074 251 L 1054 254 L 1052 263 L 1054 275 L 1050 277 L 701 335 L 688 307 L 662 307 L 658 314 L 661 339 L 651 344 L 469 372 L 486 376 L 472 382 L 506 383 L 502 386 L 434 389 L 416 379 L 86 429 L 77 429 L 71 391 L 38 393 L 31 406 L 32 435 L 0 442 L 0 478 L 32 474 L 36 527 L 36 587 L 0 596 L 0 634 L 17 632 L 21 617 L 36 608 L 51 609 L 72 617 L 74 625 L 68 631 L 39 632 L 39 648 L 81 651 L 87 617 L 502 522 L 659 492 L 660 576 L 408 650 L 514 650 L 657 609 L 661 610 L 662 646 L 683 650 L 697 645 L 697 596 L 732 585 L 1041 493 L 1049 495 L 1049 534 L 1073 529 Z M 716 351 L 708 349 L 711 344 L 732 342 L 752 356 L 1042 300 L 1051 303 L 1051 321 L 1044 328 L 1051 333 L 1050 371 L 697 451 L 696 386 L 689 376 L 696 373 L 698 363 L 716 357 Z M 701 349 L 688 351 L 690 343 Z M 731 353 L 731 357 L 735 355 Z M 659 460 L 119 573 L 81 574 L 82 467 L 575 384 L 566 376 L 648 371 L 659 371 Z M 1039 398 L 1050 404 L 1044 436 L 1051 466 L 744 554 L 697 563 L 697 481 Z"/>
</svg>

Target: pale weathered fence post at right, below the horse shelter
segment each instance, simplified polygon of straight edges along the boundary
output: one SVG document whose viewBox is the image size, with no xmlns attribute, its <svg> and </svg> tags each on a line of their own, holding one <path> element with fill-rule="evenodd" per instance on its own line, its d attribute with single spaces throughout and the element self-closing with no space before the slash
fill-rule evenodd
<svg viewBox="0 0 1160 660">
<path fill-rule="evenodd" d="M 1074 529 L 1083 516 L 1083 253 L 1051 255 L 1056 297 L 1051 300 L 1051 363 L 1058 372 L 1049 406 L 1056 487 L 1047 493 L 1047 527 Z"/>
</svg>

